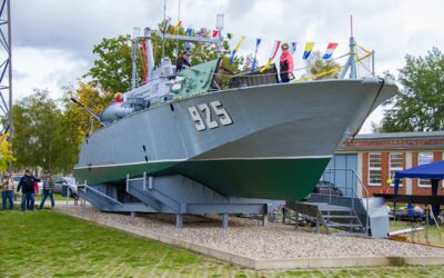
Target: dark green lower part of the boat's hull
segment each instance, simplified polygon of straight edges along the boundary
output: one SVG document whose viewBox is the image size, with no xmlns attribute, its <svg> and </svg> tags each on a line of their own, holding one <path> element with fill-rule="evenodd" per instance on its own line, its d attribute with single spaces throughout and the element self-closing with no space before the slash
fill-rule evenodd
<svg viewBox="0 0 444 278">
<path fill-rule="evenodd" d="M 159 162 L 110 168 L 78 169 L 77 180 L 89 185 L 118 181 L 122 177 L 181 173 L 231 197 L 297 200 L 306 197 L 319 181 L 330 158 L 206 160 Z M 97 179 L 95 177 L 100 177 Z"/>
</svg>

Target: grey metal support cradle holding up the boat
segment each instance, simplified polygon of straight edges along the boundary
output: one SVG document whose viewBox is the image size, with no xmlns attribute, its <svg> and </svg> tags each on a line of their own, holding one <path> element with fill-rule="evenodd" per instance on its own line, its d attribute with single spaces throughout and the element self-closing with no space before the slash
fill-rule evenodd
<svg viewBox="0 0 444 278">
<path fill-rule="evenodd" d="M 119 189 L 122 187 L 123 193 Z M 173 214 L 178 229 L 182 228 L 185 214 L 221 215 L 222 228 L 228 228 L 229 215 L 258 214 L 266 217 L 283 203 L 266 199 L 225 197 L 180 175 L 152 177 L 147 172 L 134 178 L 127 175 L 123 185 L 85 183 L 79 191 L 84 199 L 103 211 Z M 119 197 L 113 198 L 111 192 L 121 193 L 115 193 Z M 266 225 L 266 219 L 263 224 Z"/>
</svg>

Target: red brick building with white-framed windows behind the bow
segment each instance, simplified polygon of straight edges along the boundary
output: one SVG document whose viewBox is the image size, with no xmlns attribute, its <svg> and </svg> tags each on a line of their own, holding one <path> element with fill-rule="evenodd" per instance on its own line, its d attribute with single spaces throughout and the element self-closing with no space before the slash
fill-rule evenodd
<svg viewBox="0 0 444 278">
<path fill-rule="evenodd" d="M 394 180 L 391 185 L 386 180 L 393 178 L 394 171 L 442 160 L 443 152 L 444 131 L 360 135 L 353 142 L 339 147 L 327 169 L 337 166 L 353 169 L 362 181 L 355 182 L 360 195 L 393 193 Z M 400 193 L 431 195 L 430 180 L 403 179 Z M 440 183 L 438 195 L 443 193 Z"/>
</svg>

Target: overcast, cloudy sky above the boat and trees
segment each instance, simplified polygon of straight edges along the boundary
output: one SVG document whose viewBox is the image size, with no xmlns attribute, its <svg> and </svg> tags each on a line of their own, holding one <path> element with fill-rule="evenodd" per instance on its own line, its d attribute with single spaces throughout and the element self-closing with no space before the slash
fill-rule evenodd
<svg viewBox="0 0 444 278">
<path fill-rule="evenodd" d="M 133 27 L 154 27 L 163 18 L 163 0 L 12 0 L 13 93 L 21 99 L 33 88 L 56 98 L 75 86 L 91 67 L 92 47 L 102 38 L 132 33 Z M 167 0 L 167 16 L 178 20 L 179 0 Z M 346 51 L 350 14 L 357 42 L 376 51 L 376 72 L 403 67 L 406 53 L 423 56 L 432 47 L 444 50 L 444 1 L 440 0 L 181 0 L 184 27 L 215 28 L 215 14 L 225 14 L 225 32 L 246 36 L 240 54 L 252 51 L 262 38 L 265 60 L 275 39 L 340 43 Z M 302 67 L 301 46 L 295 67 Z M 263 63 L 263 62 L 262 62 Z M 382 118 L 381 109 L 366 121 Z"/>
</svg>

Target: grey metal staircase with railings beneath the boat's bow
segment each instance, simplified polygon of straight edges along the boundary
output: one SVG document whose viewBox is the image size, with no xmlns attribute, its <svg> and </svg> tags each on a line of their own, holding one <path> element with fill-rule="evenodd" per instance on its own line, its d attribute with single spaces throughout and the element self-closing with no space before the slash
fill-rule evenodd
<svg viewBox="0 0 444 278">
<path fill-rule="evenodd" d="M 350 175 L 351 179 L 345 180 L 352 182 L 344 182 L 341 187 L 345 196 L 334 196 L 330 190 L 330 193 L 312 193 L 305 201 L 287 201 L 285 208 L 293 211 L 296 225 L 303 218 L 314 222 L 317 231 L 322 226 L 326 234 L 386 237 L 390 227 L 384 200 L 369 197 L 370 193 L 352 169 L 327 169 L 326 172 L 329 171 L 344 171 Z M 323 179 L 329 180 L 325 175 Z M 366 198 L 357 193 L 357 185 Z"/>
</svg>

